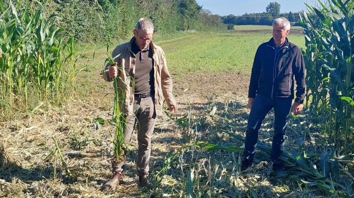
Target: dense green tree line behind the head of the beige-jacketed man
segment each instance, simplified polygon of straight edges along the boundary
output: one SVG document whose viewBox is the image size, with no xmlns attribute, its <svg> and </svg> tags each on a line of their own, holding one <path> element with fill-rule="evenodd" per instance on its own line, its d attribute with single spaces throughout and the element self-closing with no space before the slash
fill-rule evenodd
<svg viewBox="0 0 354 198">
<path fill-rule="evenodd" d="M 203 10 L 196 0 L 41 0 L 48 4 L 49 16 L 57 12 L 60 26 L 75 42 L 104 40 L 104 31 L 119 39 L 128 39 L 139 18 L 154 23 L 156 34 L 181 30 L 227 30 L 220 16 Z M 103 9 L 99 20 L 97 4 Z"/>
</svg>

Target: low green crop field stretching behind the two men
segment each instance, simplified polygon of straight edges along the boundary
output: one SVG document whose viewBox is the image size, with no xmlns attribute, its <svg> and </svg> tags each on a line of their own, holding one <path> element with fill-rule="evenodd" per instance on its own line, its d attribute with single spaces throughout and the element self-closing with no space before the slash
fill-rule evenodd
<svg viewBox="0 0 354 198">
<path fill-rule="evenodd" d="M 271 35 L 195 34 L 157 42 L 178 74 L 232 72 L 251 74 L 253 58 L 261 43 Z M 304 47 L 302 36 L 289 36 L 289 41 Z M 179 75 L 182 76 L 182 75 Z"/>
</svg>

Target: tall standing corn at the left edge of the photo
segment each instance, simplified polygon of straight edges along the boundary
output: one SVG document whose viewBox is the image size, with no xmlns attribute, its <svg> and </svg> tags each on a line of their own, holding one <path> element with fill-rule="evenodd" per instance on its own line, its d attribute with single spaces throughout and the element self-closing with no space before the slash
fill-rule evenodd
<svg viewBox="0 0 354 198">
<path fill-rule="evenodd" d="M 30 97 L 47 103 L 61 101 L 62 70 L 70 66 L 69 85 L 74 95 L 79 57 L 74 57 L 74 38 L 65 42 L 64 29 L 58 28 L 58 14 L 46 16 L 46 4 L 39 1 L 0 1 L 0 101 L 1 112 L 28 108 L 28 87 L 36 89 Z M 68 56 L 63 57 L 65 49 Z M 38 99 L 37 99 L 38 98 Z"/>
</svg>

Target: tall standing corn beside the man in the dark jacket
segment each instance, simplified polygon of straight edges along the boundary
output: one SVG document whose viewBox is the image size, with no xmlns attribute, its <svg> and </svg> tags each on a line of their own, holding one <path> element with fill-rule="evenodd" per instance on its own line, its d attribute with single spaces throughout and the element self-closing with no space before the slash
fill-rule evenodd
<svg viewBox="0 0 354 198">
<path fill-rule="evenodd" d="M 319 1 L 321 8 L 308 6 L 311 16 L 304 12 L 300 23 L 305 30 L 306 38 L 315 40 L 319 49 L 315 57 L 316 67 L 326 74 L 316 81 L 327 81 L 329 90 L 330 134 L 334 131 L 335 147 L 341 144 L 344 153 L 348 151 L 349 139 L 353 138 L 353 106 L 354 106 L 354 0 L 331 0 L 326 7 Z M 313 41 L 307 41 L 307 48 L 312 48 Z M 311 51 L 311 50 L 309 50 Z M 311 54 L 308 54 L 312 56 Z M 307 68 L 313 68 L 306 63 Z M 310 71 L 311 72 L 311 71 Z M 311 83 L 307 79 L 307 84 Z M 312 90 L 313 91 L 313 90 Z M 316 91 L 313 91 L 316 92 Z M 320 95 L 322 100 L 327 94 Z M 317 102 L 317 101 L 313 101 Z M 333 127 L 332 127 L 333 126 Z M 344 140 L 343 140 L 344 139 Z"/>
</svg>

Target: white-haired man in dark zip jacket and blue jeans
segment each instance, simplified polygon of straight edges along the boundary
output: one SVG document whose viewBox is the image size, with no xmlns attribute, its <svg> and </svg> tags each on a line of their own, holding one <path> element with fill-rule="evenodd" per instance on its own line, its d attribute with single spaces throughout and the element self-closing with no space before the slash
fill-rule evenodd
<svg viewBox="0 0 354 198">
<path fill-rule="evenodd" d="M 247 122 L 242 169 L 253 164 L 258 130 L 267 113 L 274 108 L 274 136 L 270 161 L 273 162 L 273 170 L 284 170 L 279 158 L 283 153 L 285 128 L 294 98 L 294 77 L 297 85 L 293 104 L 294 115 L 302 111 L 305 97 L 304 59 L 300 49 L 286 38 L 289 30 L 290 22 L 286 18 L 275 19 L 273 38 L 257 49 L 248 94 L 251 112 Z"/>
</svg>

